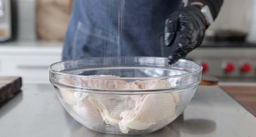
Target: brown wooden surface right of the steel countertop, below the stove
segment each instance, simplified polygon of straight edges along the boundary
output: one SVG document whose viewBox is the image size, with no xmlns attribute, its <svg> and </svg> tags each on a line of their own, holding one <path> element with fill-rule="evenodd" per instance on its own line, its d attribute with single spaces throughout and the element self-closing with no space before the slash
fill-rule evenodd
<svg viewBox="0 0 256 137">
<path fill-rule="evenodd" d="M 221 86 L 221 88 L 256 116 L 256 86 Z"/>
</svg>

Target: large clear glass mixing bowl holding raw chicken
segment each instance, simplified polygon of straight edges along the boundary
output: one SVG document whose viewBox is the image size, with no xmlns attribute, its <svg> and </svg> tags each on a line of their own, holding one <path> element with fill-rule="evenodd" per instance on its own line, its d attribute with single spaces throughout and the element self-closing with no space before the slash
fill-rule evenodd
<svg viewBox="0 0 256 137">
<path fill-rule="evenodd" d="M 145 134 L 159 130 L 186 108 L 202 67 L 180 59 L 108 57 L 67 60 L 49 67 L 64 108 L 91 130 Z"/>
</svg>

